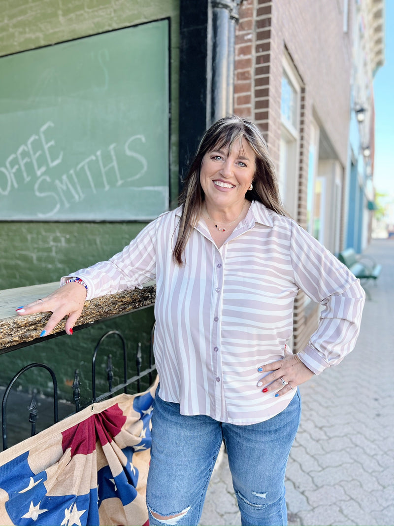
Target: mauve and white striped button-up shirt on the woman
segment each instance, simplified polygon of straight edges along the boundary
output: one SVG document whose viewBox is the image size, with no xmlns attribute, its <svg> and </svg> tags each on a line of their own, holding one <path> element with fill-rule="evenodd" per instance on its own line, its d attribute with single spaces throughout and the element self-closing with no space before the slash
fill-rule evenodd
<svg viewBox="0 0 394 526">
<path fill-rule="evenodd" d="M 271 418 L 296 390 L 276 398 L 263 393 L 257 369 L 291 352 L 298 290 L 323 306 L 317 330 L 298 353 L 316 374 L 354 348 L 364 291 L 295 221 L 255 201 L 220 248 L 200 220 L 180 267 L 172 257 L 180 213 L 161 215 L 122 252 L 74 276 L 86 282 L 87 299 L 156 281 L 159 393 L 179 403 L 182 414 L 234 424 Z"/>
</svg>

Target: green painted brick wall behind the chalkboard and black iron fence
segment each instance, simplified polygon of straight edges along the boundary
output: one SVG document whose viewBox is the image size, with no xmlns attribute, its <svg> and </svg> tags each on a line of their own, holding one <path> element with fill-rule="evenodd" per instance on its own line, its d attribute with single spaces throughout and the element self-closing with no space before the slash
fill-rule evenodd
<svg viewBox="0 0 394 526">
<path fill-rule="evenodd" d="M 171 208 L 178 198 L 179 0 L 3 0 L 0 12 L 0 59 L 3 55 L 169 17 L 171 20 Z M 58 280 L 74 270 L 108 259 L 143 227 L 122 222 L 0 222 L 0 289 Z M 15 306 L 17 307 L 17 306 Z M 74 370 L 79 370 L 82 401 L 91 398 L 91 357 L 103 333 L 119 330 L 126 339 L 129 376 L 135 370 L 138 342 L 148 363 L 153 307 L 98 323 L 87 329 L 12 351 L 0 357 L 0 385 L 31 362 L 44 362 L 58 379 L 60 398 L 72 400 Z M 115 378 L 122 381 L 120 341 L 110 337 L 97 358 L 97 393 L 106 388 L 106 356 L 111 353 Z M 30 370 L 15 388 L 37 387 L 46 395 L 51 379 Z M 146 387 L 146 383 L 142 386 Z M 27 413 L 28 414 L 28 413 Z"/>
</svg>

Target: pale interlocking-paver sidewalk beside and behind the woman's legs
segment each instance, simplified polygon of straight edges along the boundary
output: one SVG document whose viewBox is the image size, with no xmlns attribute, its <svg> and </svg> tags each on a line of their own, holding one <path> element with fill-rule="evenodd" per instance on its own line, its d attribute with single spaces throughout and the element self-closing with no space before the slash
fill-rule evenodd
<svg viewBox="0 0 394 526">
<path fill-rule="evenodd" d="M 365 251 L 383 269 L 369 285 L 355 350 L 300 387 L 303 416 L 286 472 L 291 525 L 394 524 L 394 240 Z M 225 454 L 201 526 L 239 525 Z"/>
</svg>

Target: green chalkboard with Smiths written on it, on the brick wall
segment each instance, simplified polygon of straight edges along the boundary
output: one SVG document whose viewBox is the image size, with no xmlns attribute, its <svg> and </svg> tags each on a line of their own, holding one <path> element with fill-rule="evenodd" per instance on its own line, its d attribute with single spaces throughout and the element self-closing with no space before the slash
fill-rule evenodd
<svg viewBox="0 0 394 526">
<path fill-rule="evenodd" d="M 0 219 L 169 209 L 169 23 L 0 58 Z"/>
</svg>

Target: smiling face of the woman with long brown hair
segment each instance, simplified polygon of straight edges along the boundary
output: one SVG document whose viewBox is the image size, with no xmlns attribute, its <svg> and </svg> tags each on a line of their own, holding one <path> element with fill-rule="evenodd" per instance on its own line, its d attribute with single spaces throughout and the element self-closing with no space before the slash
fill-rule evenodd
<svg viewBox="0 0 394 526">
<path fill-rule="evenodd" d="M 252 148 L 244 138 L 241 143 L 235 141 L 231 150 L 226 146 L 208 151 L 200 169 L 206 205 L 239 211 L 253 180 L 255 159 Z"/>
</svg>

